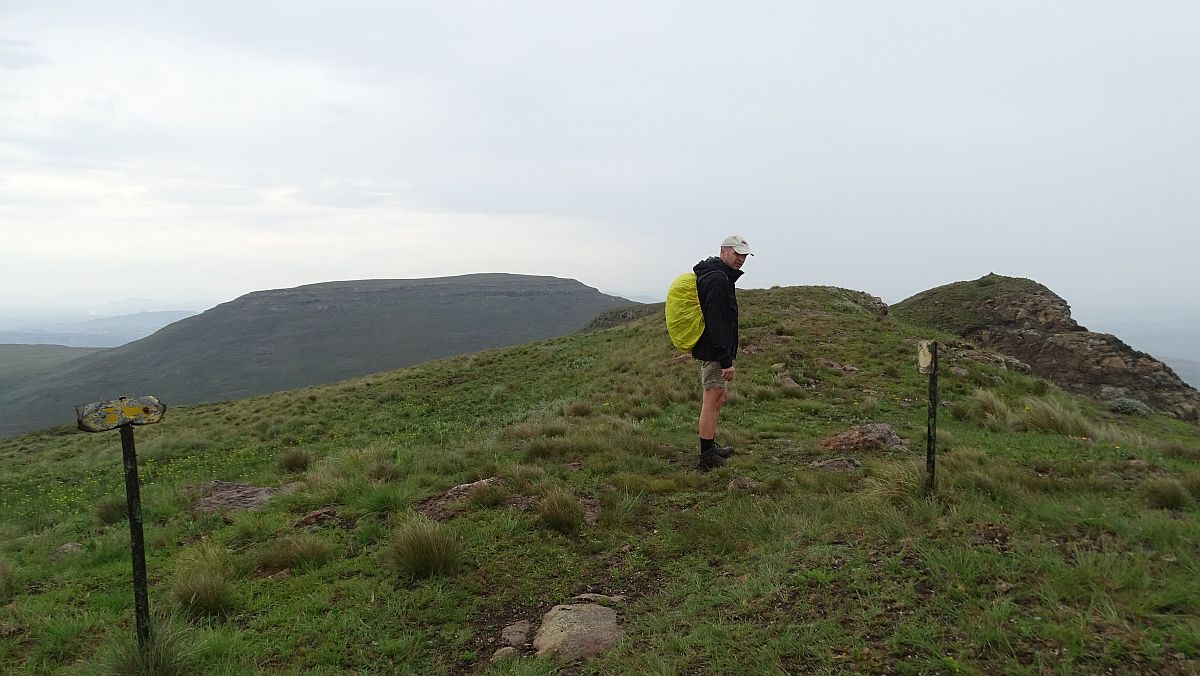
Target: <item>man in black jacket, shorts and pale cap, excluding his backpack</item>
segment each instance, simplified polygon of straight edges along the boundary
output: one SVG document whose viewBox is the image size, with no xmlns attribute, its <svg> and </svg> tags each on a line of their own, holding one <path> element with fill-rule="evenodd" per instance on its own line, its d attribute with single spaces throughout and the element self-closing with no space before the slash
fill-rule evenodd
<svg viewBox="0 0 1200 676">
<path fill-rule="evenodd" d="M 732 447 L 716 445 L 716 418 L 728 396 L 733 379 L 733 360 L 738 355 L 738 298 L 734 282 L 742 276 L 742 265 L 750 253 L 750 244 L 740 235 L 730 235 L 721 243 L 720 256 L 701 261 L 696 273 L 696 293 L 704 313 L 704 333 L 700 335 L 691 355 L 700 359 L 700 383 L 704 399 L 700 407 L 700 465 L 702 472 L 725 465 L 733 455 Z"/>
</svg>

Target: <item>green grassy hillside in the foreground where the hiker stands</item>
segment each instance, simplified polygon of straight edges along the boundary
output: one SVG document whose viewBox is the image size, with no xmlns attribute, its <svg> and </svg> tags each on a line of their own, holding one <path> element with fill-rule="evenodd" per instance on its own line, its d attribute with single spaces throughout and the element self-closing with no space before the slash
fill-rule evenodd
<svg viewBox="0 0 1200 676">
<path fill-rule="evenodd" d="M 162 654 L 205 674 L 556 674 L 528 648 L 491 664 L 500 628 L 596 592 L 628 597 L 625 636 L 586 674 L 1200 668 L 1195 426 L 952 349 L 926 498 L 916 340 L 953 340 L 854 292 L 739 298 L 720 435 L 739 453 L 707 474 L 696 369 L 656 316 L 138 429 L 151 606 L 175 614 Z M 911 450 L 810 465 L 865 423 Z M 115 432 L 0 442 L 0 671 L 128 669 L 120 465 Z M 418 516 L 491 477 L 454 518 Z M 286 490 L 209 515 L 191 504 L 210 480 Z"/>
</svg>

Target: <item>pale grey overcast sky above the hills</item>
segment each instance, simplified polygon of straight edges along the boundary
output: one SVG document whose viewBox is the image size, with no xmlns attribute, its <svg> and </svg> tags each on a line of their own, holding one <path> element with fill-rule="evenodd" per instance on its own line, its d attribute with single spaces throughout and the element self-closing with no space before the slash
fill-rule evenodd
<svg viewBox="0 0 1200 676">
<path fill-rule="evenodd" d="M 738 233 L 744 287 L 1200 313 L 1198 36 L 1194 0 L 0 0 L 0 310 L 661 297 Z"/>
</svg>

